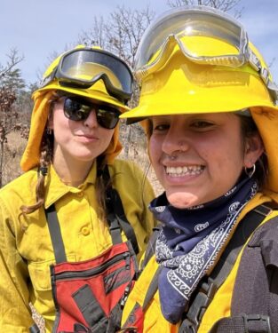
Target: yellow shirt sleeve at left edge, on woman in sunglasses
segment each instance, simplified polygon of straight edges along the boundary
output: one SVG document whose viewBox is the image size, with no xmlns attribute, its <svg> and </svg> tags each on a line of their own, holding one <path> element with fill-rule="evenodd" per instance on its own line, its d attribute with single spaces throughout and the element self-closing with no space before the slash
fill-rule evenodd
<svg viewBox="0 0 278 333">
<path fill-rule="evenodd" d="M 28 268 L 17 250 L 12 219 L 0 197 L 0 331 L 28 333 Z M 18 240 L 17 242 L 20 242 Z"/>
</svg>

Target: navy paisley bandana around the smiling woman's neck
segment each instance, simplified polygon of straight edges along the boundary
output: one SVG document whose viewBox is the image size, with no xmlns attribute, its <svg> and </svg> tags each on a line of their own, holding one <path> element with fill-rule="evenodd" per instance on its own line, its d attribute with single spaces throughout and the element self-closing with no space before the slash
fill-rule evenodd
<svg viewBox="0 0 278 333">
<path fill-rule="evenodd" d="M 219 250 L 226 245 L 240 212 L 257 191 L 258 184 L 244 177 L 225 195 L 200 206 L 177 209 L 165 194 L 150 203 L 149 209 L 163 226 L 155 257 L 163 266 L 158 289 L 167 321 L 180 321 L 192 292 L 217 263 Z"/>
</svg>

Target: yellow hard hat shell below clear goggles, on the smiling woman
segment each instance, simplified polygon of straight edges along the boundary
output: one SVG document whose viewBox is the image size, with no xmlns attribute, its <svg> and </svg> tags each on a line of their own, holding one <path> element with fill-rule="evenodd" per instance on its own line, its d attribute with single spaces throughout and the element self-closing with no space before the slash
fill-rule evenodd
<svg viewBox="0 0 278 333">
<path fill-rule="evenodd" d="M 202 36 L 196 37 L 195 43 L 203 48 L 227 46 Z M 252 44 L 250 48 L 266 67 Z M 270 91 L 255 69 L 248 64 L 201 65 L 187 59 L 177 45 L 163 68 L 142 79 L 139 106 L 122 117 L 227 112 L 248 107 L 274 107 Z"/>
</svg>

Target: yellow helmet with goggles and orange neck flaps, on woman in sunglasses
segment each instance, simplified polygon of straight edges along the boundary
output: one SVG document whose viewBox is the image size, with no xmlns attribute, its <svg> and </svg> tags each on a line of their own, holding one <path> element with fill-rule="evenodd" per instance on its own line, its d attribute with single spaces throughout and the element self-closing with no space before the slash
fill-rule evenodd
<svg viewBox="0 0 278 333">
<path fill-rule="evenodd" d="M 104 102 L 122 112 L 131 98 L 133 76 L 131 69 L 114 54 L 98 47 L 78 45 L 61 54 L 44 73 L 41 87 L 32 96 L 35 101 L 28 144 L 22 155 L 20 166 L 24 171 L 39 164 L 41 141 L 47 123 L 50 103 L 55 91 L 82 96 L 93 101 Z M 118 127 L 107 147 L 107 163 L 113 163 L 121 152 Z"/>
</svg>

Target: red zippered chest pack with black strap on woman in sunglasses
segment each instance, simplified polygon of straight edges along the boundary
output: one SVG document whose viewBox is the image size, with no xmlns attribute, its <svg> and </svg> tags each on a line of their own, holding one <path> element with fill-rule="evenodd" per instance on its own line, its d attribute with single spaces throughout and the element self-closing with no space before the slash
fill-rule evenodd
<svg viewBox="0 0 278 333">
<path fill-rule="evenodd" d="M 53 332 L 107 333 L 120 329 L 124 298 L 138 272 L 131 243 L 120 242 L 96 258 L 68 263 L 54 205 L 47 210 L 47 217 L 56 258 L 56 265 L 51 266 L 56 307 Z"/>
</svg>

